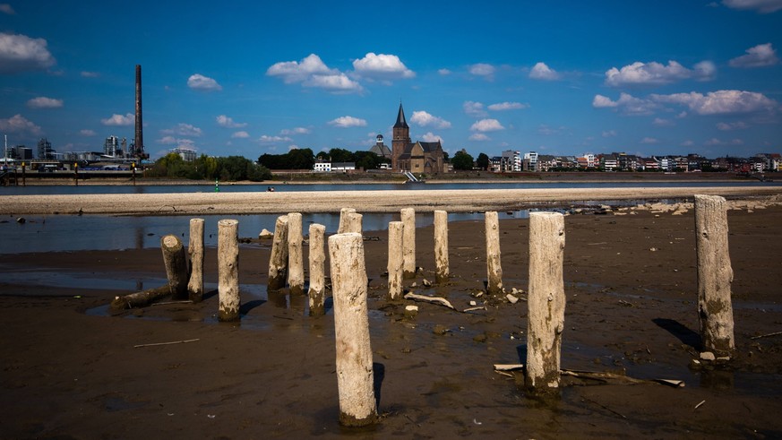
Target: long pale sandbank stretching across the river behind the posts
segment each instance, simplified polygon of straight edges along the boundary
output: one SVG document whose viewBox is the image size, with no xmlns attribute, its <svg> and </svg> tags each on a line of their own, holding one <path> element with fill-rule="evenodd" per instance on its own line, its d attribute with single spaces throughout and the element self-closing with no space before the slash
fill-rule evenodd
<svg viewBox="0 0 782 440">
<path fill-rule="evenodd" d="M 196 194 L 65 194 L 0 196 L 0 215 L 17 214 L 254 214 L 282 212 L 339 212 L 353 207 L 364 212 L 511 211 L 532 206 L 582 201 L 692 199 L 693 194 L 726 198 L 776 196 L 776 186 L 530 188 L 482 190 L 312 191 L 275 193 Z"/>
</svg>

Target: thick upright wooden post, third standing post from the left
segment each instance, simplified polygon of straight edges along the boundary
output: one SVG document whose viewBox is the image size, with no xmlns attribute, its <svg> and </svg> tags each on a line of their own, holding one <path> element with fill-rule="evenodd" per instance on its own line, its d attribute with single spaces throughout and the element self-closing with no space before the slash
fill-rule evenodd
<svg viewBox="0 0 782 440">
<path fill-rule="evenodd" d="M 239 221 L 218 221 L 219 321 L 239 319 Z"/>
</svg>

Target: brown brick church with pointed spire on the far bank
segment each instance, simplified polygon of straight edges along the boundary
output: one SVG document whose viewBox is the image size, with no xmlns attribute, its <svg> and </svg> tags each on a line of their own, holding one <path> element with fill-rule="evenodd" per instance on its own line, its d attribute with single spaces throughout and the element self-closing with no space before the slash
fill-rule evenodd
<svg viewBox="0 0 782 440">
<path fill-rule="evenodd" d="M 391 168 L 413 174 L 441 174 L 445 172 L 443 146 L 440 141 L 415 143 L 410 141 L 410 127 L 400 103 L 397 123 L 391 140 Z"/>
</svg>

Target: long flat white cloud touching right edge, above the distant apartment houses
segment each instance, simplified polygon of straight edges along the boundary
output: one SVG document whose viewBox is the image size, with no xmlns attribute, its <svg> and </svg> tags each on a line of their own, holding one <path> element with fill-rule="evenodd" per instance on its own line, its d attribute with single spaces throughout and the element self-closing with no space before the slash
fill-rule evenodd
<svg viewBox="0 0 782 440">
<path fill-rule="evenodd" d="M 754 113 L 773 111 L 777 101 L 754 91 L 709 91 L 706 95 L 691 91 L 671 95 L 651 95 L 657 102 L 687 106 L 699 115 L 722 115 L 730 113 Z"/>
</svg>

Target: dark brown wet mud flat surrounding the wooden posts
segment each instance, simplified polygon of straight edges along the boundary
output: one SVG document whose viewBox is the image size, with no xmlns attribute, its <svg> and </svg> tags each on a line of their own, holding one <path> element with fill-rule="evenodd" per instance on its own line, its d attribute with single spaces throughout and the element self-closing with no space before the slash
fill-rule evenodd
<svg viewBox="0 0 782 440">
<path fill-rule="evenodd" d="M 281 194 L 281 193 L 278 193 Z M 3 438 L 603 438 L 782 436 L 782 207 L 736 201 L 728 212 L 735 272 L 735 358 L 693 369 L 698 356 L 695 238 L 691 207 L 649 204 L 565 219 L 563 367 L 641 379 L 606 384 L 564 379 L 561 395 L 538 400 L 496 363 L 524 362 L 526 296 L 486 301 L 483 222 L 450 225 L 451 273 L 434 280 L 433 229 L 417 229 L 411 290 L 469 301 L 471 313 L 384 300 L 385 232 L 367 232 L 370 325 L 380 423 L 351 431 L 337 423 L 332 315 L 306 315 L 305 297 L 267 296 L 269 246 L 241 247 L 240 324 L 217 324 L 212 291 L 198 305 L 150 306 L 108 316 L 111 280 L 162 280 L 159 250 L 0 255 L 0 437 Z M 294 211 L 294 210 L 289 210 Z M 183 221 L 186 221 L 183 218 Z M 528 220 L 502 220 L 503 284 L 527 289 Z M 271 228 L 270 228 L 271 229 Z M 305 246 L 306 247 L 306 246 Z M 206 276 L 217 280 L 216 249 Z M 36 280 L 56 271 L 78 287 Z M 71 282 L 69 285 L 73 285 Z M 150 287 L 150 286 L 145 286 Z M 89 312 L 89 313 L 88 313 Z M 189 341 L 175 345 L 135 345 Z"/>
</svg>

